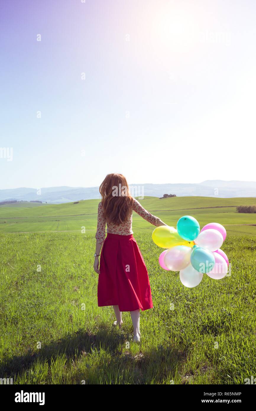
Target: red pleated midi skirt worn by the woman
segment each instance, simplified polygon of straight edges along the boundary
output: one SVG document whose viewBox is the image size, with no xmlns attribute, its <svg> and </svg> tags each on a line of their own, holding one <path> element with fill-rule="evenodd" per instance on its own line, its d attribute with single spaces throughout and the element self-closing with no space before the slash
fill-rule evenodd
<svg viewBox="0 0 256 411">
<path fill-rule="evenodd" d="M 132 234 L 107 234 L 99 270 L 99 307 L 118 305 L 120 311 L 153 307 L 148 270 Z"/>
</svg>

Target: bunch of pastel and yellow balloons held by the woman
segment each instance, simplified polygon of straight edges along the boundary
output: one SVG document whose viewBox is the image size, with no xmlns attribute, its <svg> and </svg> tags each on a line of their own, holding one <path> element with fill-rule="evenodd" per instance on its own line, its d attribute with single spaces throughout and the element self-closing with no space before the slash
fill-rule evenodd
<svg viewBox="0 0 256 411">
<path fill-rule="evenodd" d="M 186 287 L 196 287 L 207 274 L 214 279 L 228 272 L 228 257 L 220 249 L 226 230 L 219 223 L 206 224 L 201 231 L 198 221 L 189 215 L 178 220 L 177 230 L 159 226 L 152 233 L 156 245 L 166 248 L 159 256 L 164 270 L 180 271 L 180 281 Z"/>
</svg>

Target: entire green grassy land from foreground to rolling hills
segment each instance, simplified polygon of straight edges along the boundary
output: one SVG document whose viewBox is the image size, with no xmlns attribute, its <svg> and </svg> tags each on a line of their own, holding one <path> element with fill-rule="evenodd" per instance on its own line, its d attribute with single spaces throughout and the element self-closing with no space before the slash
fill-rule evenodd
<svg viewBox="0 0 256 411">
<path fill-rule="evenodd" d="M 154 304 L 141 313 L 141 345 L 132 342 L 129 313 L 120 331 L 112 326 L 113 309 L 97 306 L 98 202 L 0 207 L 0 377 L 18 384 L 244 384 L 255 378 L 256 231 L 247 225 L 255 216 L 235 212 L 255 199 L 141 201 L 170 225 L 185 214 L 201 226 L 224 224 L 222 249 L 231 262 L 230 276 L 204 275 L 187 289 L 178 273 L 160 268 L 154 227 L 134 215 Z"/>
</svg>

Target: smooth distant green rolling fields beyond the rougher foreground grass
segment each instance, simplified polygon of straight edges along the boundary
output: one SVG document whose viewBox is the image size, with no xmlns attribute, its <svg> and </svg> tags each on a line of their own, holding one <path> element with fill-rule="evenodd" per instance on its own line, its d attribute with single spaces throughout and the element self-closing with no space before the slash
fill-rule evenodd
<svg viewBox="0 0 256 411">
<path fill-rule="evenodd" d="M 216 221 L 226 227 L 228 234 L 256 235 L 255 214 L 236 212 L 237 205 L 255 204 L 256 198 L 174 197 L 160 200 L 157 197 L 145 197 L 140 202 L 168 225 L 176 226 L 182 215 L 189 214 L 193 215 L 201 226 Z M 93 233 L 97 226 L 98 203 L 99 200 L 86 200 L 78 204 L 2 205 L 0 233 L 81 232 L 82 226 L 85 226 L 88 233 Z M 133 228 L 137 231 L 152 231 L 152 226 L 136 213 L 133 216 Z"/>
</svg>

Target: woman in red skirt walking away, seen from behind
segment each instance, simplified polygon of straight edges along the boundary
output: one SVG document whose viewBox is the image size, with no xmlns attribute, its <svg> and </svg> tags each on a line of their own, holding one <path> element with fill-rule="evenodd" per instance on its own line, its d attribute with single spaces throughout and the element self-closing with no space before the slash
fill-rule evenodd
<svg viewBox="0 0 256 411">
<path fill-rule="evenodd" d="M 132 212 L 154 226 L 166 224 L 129 195 L 127 180 L 122 174 L 108 174 L 99 192 L 102 199 L 98 206 L 94 254 L 94 270 L 99 274 L 98 306 L 113 305 L 120 328 L 122 311 L 129 311 L 134 328 L 133 341 L 139 342 L 140 309 L 152 308 L 153 304 L 148 271 L 131 229 Z"/>
</svg>

